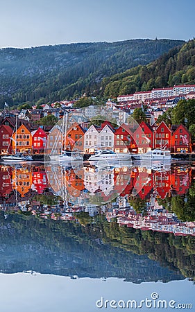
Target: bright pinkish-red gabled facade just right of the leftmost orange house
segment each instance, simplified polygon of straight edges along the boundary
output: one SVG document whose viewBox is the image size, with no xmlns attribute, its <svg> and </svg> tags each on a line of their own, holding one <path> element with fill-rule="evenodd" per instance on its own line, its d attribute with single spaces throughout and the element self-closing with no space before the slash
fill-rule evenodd
<svg viewBox="0 0 195 312">
<path fill-rule="evenodd" d="M 31 132 L 32 135 L 32 148 L 33 153 L 40 154 L 44 153 L 44 148 L 46 145 L 47 135 L 42 128 Z"/>
</svg>

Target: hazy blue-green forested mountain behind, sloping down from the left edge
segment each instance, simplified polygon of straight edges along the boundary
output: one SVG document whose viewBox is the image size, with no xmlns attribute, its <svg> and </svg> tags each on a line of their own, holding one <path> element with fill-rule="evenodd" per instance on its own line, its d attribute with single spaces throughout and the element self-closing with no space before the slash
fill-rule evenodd
<svg viewBox="0 0 195 312">
<path fill-rule="evenodd" d="M 0 50 L 0 107 L 58 101 L 97 89 L 103 77 L 148 64 L 182 40 L 126 40 Z M 99 90 L 97 90 L 99 92 Z"/>
</svg>

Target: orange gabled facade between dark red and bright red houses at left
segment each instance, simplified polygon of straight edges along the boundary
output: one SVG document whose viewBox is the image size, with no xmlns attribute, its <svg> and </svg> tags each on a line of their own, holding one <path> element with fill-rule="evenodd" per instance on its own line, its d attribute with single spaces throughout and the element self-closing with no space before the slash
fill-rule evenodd
<svg viewBox="0 0 195 312">
<path fill-rule="evenodd" d="M 32 151 L 32 135 L 31 131 L 25 126 L 21 125 L 12 135 L 12 149 L 19 153 L 31 153 Z"/>
</svg>

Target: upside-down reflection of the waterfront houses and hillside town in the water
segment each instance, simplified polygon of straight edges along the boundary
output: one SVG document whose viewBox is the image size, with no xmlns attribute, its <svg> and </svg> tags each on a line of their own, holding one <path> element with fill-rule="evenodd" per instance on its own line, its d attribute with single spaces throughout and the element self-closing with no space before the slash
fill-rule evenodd
<svg viewBox="0 0 195 312">
<path fill-rule="evenodd" d="M 191 166 L 0 166 L 0 207 L 40 218 L 76 220 L 75 212 L 105 213 L 120 226 L 195 235 L 194 220 L 179 220 L 171 198 L 192 186 Z"/>
</svg>

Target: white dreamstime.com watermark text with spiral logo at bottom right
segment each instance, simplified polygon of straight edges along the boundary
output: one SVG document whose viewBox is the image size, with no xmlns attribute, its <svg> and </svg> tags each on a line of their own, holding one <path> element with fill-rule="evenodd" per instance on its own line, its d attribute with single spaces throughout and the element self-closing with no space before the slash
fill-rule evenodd
<svg viewBox="0 0 195 312">
<path fill-rule="evenodd" d="M 105 300 L 101 297 L 96 301 L 99 309 L 192 309 L 192 303 L 180 303 L 176 300 L 161 300 L 158 293 L 153 292 L 143 300 Z M 144 310 L 145 311 L 145 310 Z"/>
</svg>

